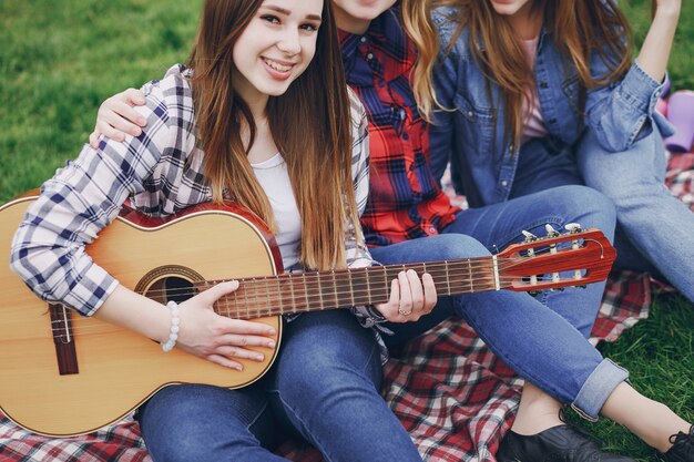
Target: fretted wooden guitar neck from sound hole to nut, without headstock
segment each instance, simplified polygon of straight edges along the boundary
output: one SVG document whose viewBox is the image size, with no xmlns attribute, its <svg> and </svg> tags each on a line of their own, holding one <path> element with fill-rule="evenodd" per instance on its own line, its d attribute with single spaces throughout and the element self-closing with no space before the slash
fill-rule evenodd
<svg viewBox="0 0 694 462">
<path fill-rule="evenodd" d="M 349 308 L 388 301 L 398 273 L 428 273 L 439 296 L 500 289 L 497 258 L 479 257 L 335 271 L 286 273 L 239 279 L 239 288 L 215 305 L 218 315 L 254 319 L 293 312 Z M 206 281 L 208 288 L 220 281 Z"/>
</svg>

